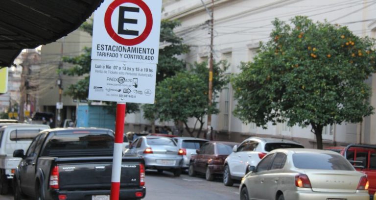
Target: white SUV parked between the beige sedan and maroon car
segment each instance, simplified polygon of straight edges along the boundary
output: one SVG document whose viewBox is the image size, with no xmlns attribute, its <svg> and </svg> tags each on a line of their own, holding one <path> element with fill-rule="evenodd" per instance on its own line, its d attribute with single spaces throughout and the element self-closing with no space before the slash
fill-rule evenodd
<svg viewBox="0 0 376 200">
<path fill-rule="evenodd" d="M 232 186 L 247 174 L 248 166 L 256 166 L 266 153 L 280 148 L 304 148 L 301 144 L 285 139 L 250 137 L 234 149 L 225 160 L 223 183 Z"/>
</svg>

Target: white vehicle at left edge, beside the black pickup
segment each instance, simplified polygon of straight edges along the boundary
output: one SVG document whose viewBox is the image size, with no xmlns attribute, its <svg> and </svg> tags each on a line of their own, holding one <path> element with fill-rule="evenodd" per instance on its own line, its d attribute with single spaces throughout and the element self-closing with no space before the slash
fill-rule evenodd
<svg viewBox="0 0 376 200">
<path fill-rule="evenodd" d="M 14 158 L 13 151 L 26 150 L 31 141 L 48 125 L 12 124 L 0 128 L 0 194 L 8 193 L 9 185 L 21 158 Z"/>
</svg>

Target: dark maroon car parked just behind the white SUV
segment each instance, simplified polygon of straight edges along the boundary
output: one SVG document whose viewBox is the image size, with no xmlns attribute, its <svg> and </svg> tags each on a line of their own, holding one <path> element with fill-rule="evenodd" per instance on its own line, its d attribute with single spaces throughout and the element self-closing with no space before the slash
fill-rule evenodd
<svg viewBox="0 0 376 200">
<path fill-rule="evenodd" d="M 215 175 L 222 175 L 223 163 L 239 143 L 210 141 L 205 143 L 196 155 L 190 158 L 188 175 L 195 176 L 196 172 L 204 173 L 206 180 L 213 180 Z"/>
</svg>

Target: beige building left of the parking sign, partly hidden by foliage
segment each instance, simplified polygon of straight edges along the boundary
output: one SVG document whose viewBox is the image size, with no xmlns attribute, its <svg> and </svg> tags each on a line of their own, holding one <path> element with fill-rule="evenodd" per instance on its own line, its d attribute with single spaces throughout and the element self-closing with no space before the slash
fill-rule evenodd
<svg viewBox="0 0 376 200">
<path fill-rule="evenodd" d="M 52 112 L 55 122 L 60 125 L 65 119 L 75 119 L 76 102 L 64 95 L 65 89 L 83 77 L 59 75 L 58 69 L 69 66 L 63 63 L 63 56 L 82 54 L 84 47 L 91 47 L 91 36 L 83 31 L 75 30 L 54 43 L 41 47 L 40 88 L 38 92 L 38 111 Z M 60 90 L 62 88 L 62 90 Z M 59 92 L 60 91 L 60 92 Z M 59 94 L 62 93 L 62 94 Z M 56 109 L 56 103 L 62 102 L 63 109 Z"/>
</svg>

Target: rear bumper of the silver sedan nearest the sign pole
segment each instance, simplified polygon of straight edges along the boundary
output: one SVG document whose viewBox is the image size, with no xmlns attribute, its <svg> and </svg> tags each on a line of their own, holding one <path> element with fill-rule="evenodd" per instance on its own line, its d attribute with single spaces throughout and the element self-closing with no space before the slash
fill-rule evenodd
<svg viewBox="0 0 376 200">
<path fill-rule="evenodd" d="M 183 158 L 179 157 L 155 157 L 152 155 L 145 155 L 146 169 L 176 169 L 183 165 Z"/>
</svg>

